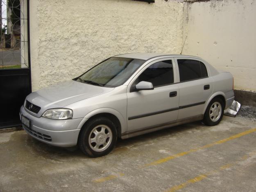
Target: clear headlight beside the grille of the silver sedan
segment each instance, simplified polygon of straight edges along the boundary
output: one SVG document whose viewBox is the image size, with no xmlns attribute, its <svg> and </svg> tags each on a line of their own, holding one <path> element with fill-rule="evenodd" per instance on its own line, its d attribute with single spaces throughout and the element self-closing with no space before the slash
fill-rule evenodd
<svg viewBox="0 0 256 192">
<path fill-rule="evenodd" d="M 42 116 L 54 120 L 72 119 L 73 111 L 68 108 L 52 108 L 46 110 Z"/>
</svg>

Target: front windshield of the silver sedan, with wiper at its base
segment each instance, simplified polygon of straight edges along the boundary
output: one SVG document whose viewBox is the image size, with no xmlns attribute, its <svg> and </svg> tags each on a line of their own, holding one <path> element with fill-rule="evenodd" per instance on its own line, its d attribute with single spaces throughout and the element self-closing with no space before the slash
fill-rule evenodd
<svg viewBox="0 0 256 192">
<path fill-rule="evenodd" d="M 103 87 L 117 87 L 145 62 L 141 59 L 111 57 L 74 79 L 86 84 Z"/>
</svg>

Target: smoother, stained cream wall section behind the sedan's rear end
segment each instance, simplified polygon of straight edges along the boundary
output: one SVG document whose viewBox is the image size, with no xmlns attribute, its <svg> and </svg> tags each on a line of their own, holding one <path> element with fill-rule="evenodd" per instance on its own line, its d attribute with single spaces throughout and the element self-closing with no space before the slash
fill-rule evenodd
<svg viewBox="0 0 256 192">
<path fill-rule="evenodd" d="M 255 19 L 256 0 L 184 4 L 183 41 L 187 39 L 182 53 L 231 72 L 236 89 L 256 91 Z"/>
</svg>

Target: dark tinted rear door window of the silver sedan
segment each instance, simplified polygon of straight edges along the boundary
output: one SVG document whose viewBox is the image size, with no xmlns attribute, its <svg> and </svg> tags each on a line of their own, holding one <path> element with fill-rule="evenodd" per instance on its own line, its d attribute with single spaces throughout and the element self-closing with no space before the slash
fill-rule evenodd
<svg viewBox="0 0 256 192">
<path fill-rule="evenodd" d="M 178 59 L 179 79 L 182 81 L 190 81 L 208 77 L 204 63 L 191 59 Z"/>
</svg>

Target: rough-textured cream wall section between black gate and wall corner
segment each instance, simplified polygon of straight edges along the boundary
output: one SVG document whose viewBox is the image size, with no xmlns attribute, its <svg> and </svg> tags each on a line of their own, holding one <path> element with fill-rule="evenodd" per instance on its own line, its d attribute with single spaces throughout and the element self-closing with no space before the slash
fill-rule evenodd
<svg viewBox="0 0 256 192">
<path fill-rule="evenodd" d="M 30 1 L 32 90 L 72 79 L 109 56 L 179 53 L 183 4 L 131 0 Z"/>
</svg>

